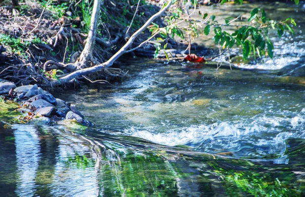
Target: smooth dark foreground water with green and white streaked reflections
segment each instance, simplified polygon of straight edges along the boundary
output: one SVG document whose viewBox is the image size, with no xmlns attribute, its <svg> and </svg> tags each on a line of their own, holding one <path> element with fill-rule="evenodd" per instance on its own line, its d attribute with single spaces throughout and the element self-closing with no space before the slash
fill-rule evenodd
<svg viewBox="0 0 305 197">
<path fill-rule="evenodd" d="M 2 124 L 0 130 L 0 196 L 300 196 L 304 191 L 302 139 L 287 142 L 285 158 L 246 160 L 95 130 L 23 124 Z"/>
</svg>

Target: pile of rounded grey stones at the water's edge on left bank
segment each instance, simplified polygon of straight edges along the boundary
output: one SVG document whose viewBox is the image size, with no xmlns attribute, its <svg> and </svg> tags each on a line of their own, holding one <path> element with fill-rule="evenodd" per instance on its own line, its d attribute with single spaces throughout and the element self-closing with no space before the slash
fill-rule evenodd
<svg viewBox="0 0 305 197">
<path fill-rule="evenodd" d="M 36 115 L 56 116 L 59 119 L 76 120 L 84 126 L 92 126 L 92 123 L 84 119 L 84 116 L 76 109 L 75 105 L 55 98 L 51 93 L 38 87 L 37 84 L 16 87 L 10 81 L 1 80 L 0 94 L 16 95 L 16 100 L 20 101 L 22 106 L 26 106 Z"/>
</svg>

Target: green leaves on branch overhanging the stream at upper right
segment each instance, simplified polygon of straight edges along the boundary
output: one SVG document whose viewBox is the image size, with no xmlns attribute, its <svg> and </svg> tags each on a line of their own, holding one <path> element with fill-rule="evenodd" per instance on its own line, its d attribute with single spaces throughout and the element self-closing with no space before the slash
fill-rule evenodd
<svg viewBox="0 0 305 197">
<path fill-rule="evenodd" d="M 230 1 L 222 0 L 221 4 L 226 2 Z M 238 4 L 242 4 L 242 2 L 242 0 L 235 0 L 235 3 Z M 298 1 L 294 2 L 296 4 L 299 3 Z M 192 1 L 192 3 L 196 4 L 196 1 Z M 271 20 L 267 17 L 265 10 L 261 8 L 254 8 L 250 14 L 251 16 L 247 20 L 248 24 L 231 24 L 236 20 L 232 17 L 225 18 L 225 24 L 222 24 L 216 19 L 215 15 L 208 15 L 207 13 L 202 15 L 200 12 L 199 15 L 202 16 L 203 21 L 196 21 L 188 17 L 189 14 L 177 4 L 169 10 L 169 14 L 165 18 L 168 24 L 166 27 L 160 28 L 158 25 L 152 24 L 148 28 L 152 35 L 159 34 L 162 38 L 165 38 L 167 35 L 171 38 L 178 36 L 181 39 L 187 38 L 188 42 L 191 42 L 192 39 L 198 37 L 201 31 L 199 27 L 205 24 L 202 33 L 207 36 L 211 32 L 211 28 L 214 28 L 215 43 L 219 44 L 223 49 L 241 47 L 243 59 L 249 58 L 251 53 L 254 57 L 257 54 L 259 57 L 266 55 L 273 58 L 274 47 L 268 38 L 269 29 L 277 29 L 279 37 L 282 37 L 285 31 L 289 31 L 294 35 L 292 28 L 292 26 L 296 26 L 294 19 L 287 18 L 283 21 Z M 181 21 L 186 21 L 187 25 L 180 26 Z M 232 26 L 237 29 L 231 33 L 224 30 L 224 26 Z M 157 48 L 155 57 L 158 56 L 159 51 L 160 49 Z"/>
</svg>

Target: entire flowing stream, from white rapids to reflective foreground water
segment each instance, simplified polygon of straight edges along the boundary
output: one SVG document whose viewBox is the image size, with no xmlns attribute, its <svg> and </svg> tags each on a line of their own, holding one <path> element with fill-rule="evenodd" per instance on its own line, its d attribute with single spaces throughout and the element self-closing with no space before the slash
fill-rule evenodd
<svg viewBox="0 0 305 197">
<path fill-rule="evenodd" d="M 305 78 L 278 75 L 304 64 L 305 5 L 270 5 L 259 6 L 300 25 L 296 37 L 273 39 L 273 60 L 236 58 L 218 71 L 217 62 L 122 63 L 129 75 L 113 86 L 58 93 L 89 129 L 8 125 L 16 114 L 0 113 L 0 196 L 305 195 Z"/>
</svg>

